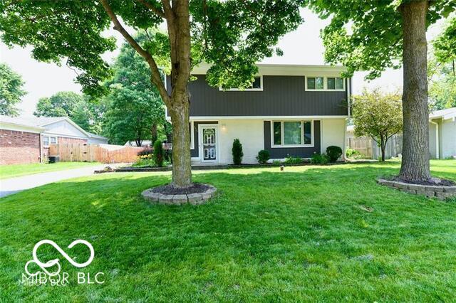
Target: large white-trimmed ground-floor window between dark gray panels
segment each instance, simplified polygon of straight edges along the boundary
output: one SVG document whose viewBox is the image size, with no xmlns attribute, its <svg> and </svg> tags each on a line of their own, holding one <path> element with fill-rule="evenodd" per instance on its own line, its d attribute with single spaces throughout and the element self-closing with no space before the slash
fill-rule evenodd
<svg viewBox="0 0 456 303">
<path fill-rule="evenodd" d="M 312 121 L 273 121 L 272 147 L 311 147 L 314 144 Z"/>
</svg>

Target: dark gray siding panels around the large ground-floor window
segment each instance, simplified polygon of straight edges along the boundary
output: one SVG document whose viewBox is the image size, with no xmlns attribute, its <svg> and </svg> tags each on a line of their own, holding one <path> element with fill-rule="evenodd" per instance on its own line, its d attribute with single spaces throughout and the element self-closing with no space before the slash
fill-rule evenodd
<svg viewBox="0 0 456 303">
<path fill-rule="evenodd" d="M 271 147 L 271 122 L 264 121 L 264 149 L 269 151 L 271 159 L 283 159 L 286 156 L 310 158 L 315 152 L 320 152 L 320 121 L 314 120 L 314 147 Z"/>
</svg>

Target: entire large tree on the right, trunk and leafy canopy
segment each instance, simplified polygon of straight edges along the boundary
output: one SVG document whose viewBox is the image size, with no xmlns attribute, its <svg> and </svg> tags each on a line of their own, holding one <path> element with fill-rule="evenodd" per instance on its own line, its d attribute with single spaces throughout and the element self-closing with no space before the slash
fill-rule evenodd
<svg viewBox="0 0 456 303">
<path fill-rule="evenodd" d="M 455 10 L 447 0 L 309 0 L 323 18 L 325 58 L 343 63 L 346 76 L 369 70 L 368 79 L 403 65 L 403 161 L 400 178 L 430 179 L 426 28 Z"/>
</svg>

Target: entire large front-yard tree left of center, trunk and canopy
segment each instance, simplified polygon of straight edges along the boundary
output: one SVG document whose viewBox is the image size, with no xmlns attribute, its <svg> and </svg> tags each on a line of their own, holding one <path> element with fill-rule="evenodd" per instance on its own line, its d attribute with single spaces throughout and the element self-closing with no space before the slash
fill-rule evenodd
<svg viewBox="0 0 456 303">
<path fill-rule="evenodd" d="M 6 44 L 31 45 L 38 60 L 61 62 L 81 73 L 77 80 L 86 91 L 99 92 L 100 78 L 108 76 L 101 58 L 113 50 L 113 38 L 101 33 L 112 22 L 115 30 L 145 60 L 172 121 L 172 185 L 191 186 L 190 95 L 192 65 L 213 63 L 212 85 L 247 87 L 257 72 L 255 63 L 272 55 L 280 36 L 301 23 L 303 0 L 99 0 L 0 2 L 0 30 Z M 120 19 L 123 22 L 120 22 Z M 165 22 L 167 36 L 140 45 L 128 28 L 147 29 Z M 153 38 L 153 37 L 152 37 Z M 157 58 L 168 50 L 170 90 L 160 75 Z M 238 85 L 239 84 L 239 85 Z"/>
</svg>

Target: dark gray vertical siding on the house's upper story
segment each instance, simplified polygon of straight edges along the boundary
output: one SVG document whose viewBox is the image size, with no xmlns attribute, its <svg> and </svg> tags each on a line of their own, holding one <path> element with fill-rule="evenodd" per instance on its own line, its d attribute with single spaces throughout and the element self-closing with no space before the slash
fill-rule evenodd
<svg viewBox="0 0 456 303">
<path fill-rule="evenodd" d="M 304 76 L 265 75 L 262 91 L 220 91 L 205 75 L 196 77 L 189 84 L 192 117 L 347 115 L 347 92 L 306 91 Z"/>
</svg>

